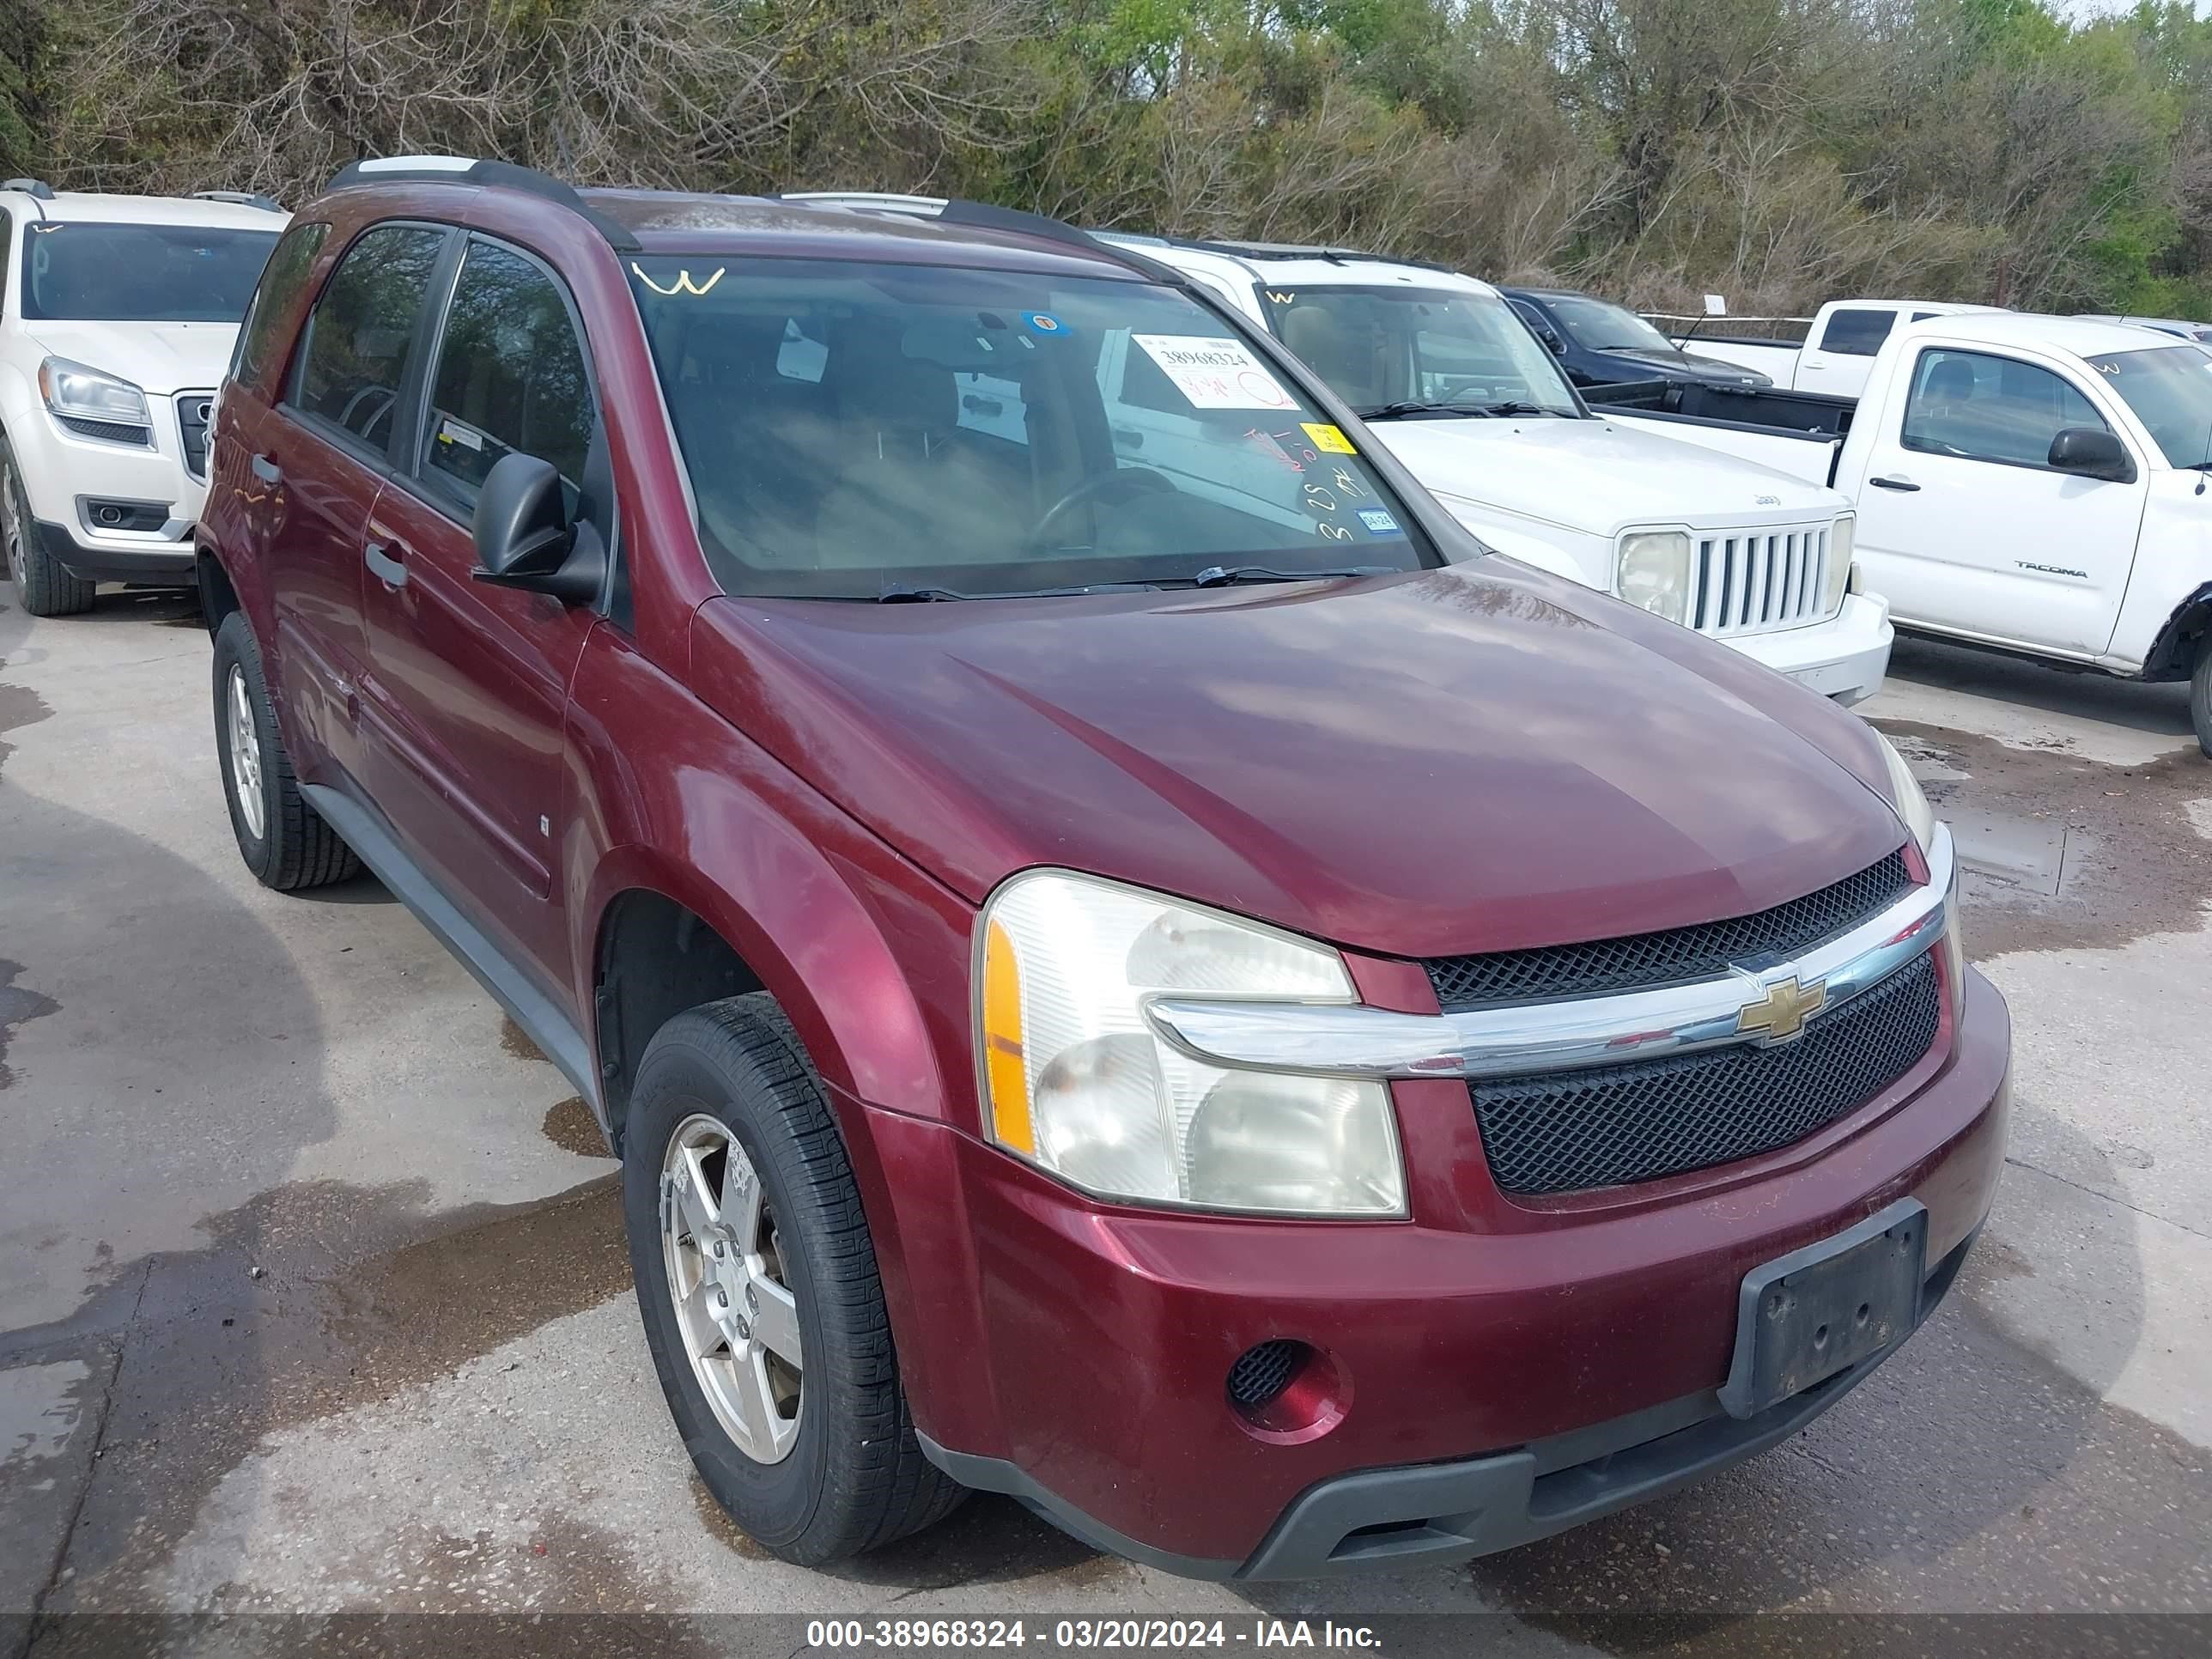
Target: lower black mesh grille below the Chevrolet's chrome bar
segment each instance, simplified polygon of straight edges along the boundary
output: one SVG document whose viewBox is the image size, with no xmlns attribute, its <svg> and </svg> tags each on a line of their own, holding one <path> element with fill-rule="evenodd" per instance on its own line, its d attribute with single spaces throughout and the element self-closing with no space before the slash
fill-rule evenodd
<svg viewBox="0 0 2212 1659">
<path fill-rule="evenodd" d="M 1772 1048 L 1471 1084 L 1504 1192 L 1584 1192 L 1705 1170 L 1805 1139 L 1858 1110 L 1933 1046 L 1936 962 L 1920 956 Z"/>
</svg>

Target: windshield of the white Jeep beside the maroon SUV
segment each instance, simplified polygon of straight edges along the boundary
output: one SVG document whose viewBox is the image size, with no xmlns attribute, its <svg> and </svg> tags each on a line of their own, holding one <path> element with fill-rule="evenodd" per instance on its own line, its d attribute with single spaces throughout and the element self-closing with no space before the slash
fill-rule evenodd
<svg viewBox="0 0 2212 1659">
<path fill-rule="evenodd" d="M 1471 290 L 1267 288 L 1276 336 L 1360 414 L 1396 403 L 1582 416 L 1506 303 Z"/>
</svg>

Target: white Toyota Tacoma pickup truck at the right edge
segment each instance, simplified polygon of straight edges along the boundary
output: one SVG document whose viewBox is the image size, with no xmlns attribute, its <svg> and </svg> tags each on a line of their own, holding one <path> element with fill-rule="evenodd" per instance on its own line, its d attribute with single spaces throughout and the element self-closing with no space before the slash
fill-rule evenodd
<svg viewBox="0 0 2212 1659">
<path fill-rule="evenodd" d="M 1905 323 L 1858 403 L 1670 392 L 1621 422 L 1858 504 L 1900 628 L 2128 679 L 2188 679 L 2212 754 L 2212 352 L 2128 323 Z"/>
</svg>

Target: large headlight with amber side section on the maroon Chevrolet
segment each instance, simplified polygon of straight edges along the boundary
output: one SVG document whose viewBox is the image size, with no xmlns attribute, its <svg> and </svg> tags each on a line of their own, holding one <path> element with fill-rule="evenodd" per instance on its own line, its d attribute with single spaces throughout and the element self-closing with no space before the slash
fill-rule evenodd
<svg viewBox="0 0 2212 1659">
<path fill-rule="evenodd" d="M 975 987 L 991 1137 L 1104 1199 L 1405 1214 L 1385 1084 L 1208 1066 L 1152 1031 L 1157 993 L 1358 1002 L 1312 940 L 1093 876 L 1015 876 L 984 907 Z"/>
</svg>

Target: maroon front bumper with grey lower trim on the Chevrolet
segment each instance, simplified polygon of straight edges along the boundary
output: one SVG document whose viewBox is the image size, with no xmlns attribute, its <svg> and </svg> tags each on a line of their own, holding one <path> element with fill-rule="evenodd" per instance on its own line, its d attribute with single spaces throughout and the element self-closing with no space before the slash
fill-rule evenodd
<svg viewBox="0 0 2212 1659">
<path fill-rule="evenodd" d="M 1911 1197 L 1927 1305 L 1949 1287 L 2002 1168 L 2008 1051 L 2004 1002 L 1971 975 L 1958 1029 L 1885 1099 L 1730 1170 L 1564 1201 L 1455 1201 L 1455 1170 L 1482 1166 L 1467 1086 L 1394 1084 L 1409 1223 L 1113 1210 L 863 1108 L 900 1170 L 878 1192 L 911 1274 L 918 1427 L 958 1480 L 1192 1577 L 1544 1537 L 1756 1453 L 1896 1352 L 1721 1416 L 1752 1267 Z M 1274 1338 L 1336 1367 L 1327 1429 L 1259 1433 L 1230 1407 L 1237 1356 Z"/>
</svg>

